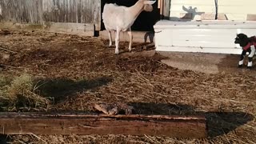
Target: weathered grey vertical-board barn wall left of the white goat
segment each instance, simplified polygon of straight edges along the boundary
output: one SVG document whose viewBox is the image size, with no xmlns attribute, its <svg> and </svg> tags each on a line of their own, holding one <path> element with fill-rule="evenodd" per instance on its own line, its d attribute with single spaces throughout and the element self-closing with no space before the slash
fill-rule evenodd
<svg viewBox="0 0 256 144">
<path fill-rule="evenodd" d="M 101 26 L 101 0 L 0 0 L 0 22 Z"/>
</svg>

